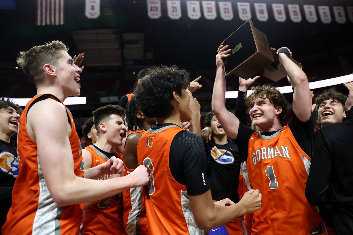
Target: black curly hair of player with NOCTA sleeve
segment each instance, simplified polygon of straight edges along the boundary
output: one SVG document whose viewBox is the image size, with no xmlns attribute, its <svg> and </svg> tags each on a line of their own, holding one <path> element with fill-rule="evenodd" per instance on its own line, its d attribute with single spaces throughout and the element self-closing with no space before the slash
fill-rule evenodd
<svg viewBox="0 0 353 235">
<path fill-rule="evenodd" d="M 189 86 L 189 74 L 177 66 L 152 68 L 139 84 L 135 85 L 134 95 L 139 109 L 148 118 L 164 118 L 170 115 L 173 106 L 173 91 L 181 95 L 181 90 Z"/>
</svg>

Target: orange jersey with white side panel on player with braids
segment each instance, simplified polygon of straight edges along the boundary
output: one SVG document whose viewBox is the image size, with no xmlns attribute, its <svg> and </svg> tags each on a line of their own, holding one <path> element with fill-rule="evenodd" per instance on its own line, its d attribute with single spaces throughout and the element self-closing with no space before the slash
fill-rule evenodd
<svg viewBox="0 0 353 235">
<path fill-rule="evenodd" d="M 136 130 L 133 133 L 144 133 L 145 130 Z M 124 163 L 124 176 L 133 172 Z M 148 224 L 145 209 L 145 200 L 142 196 L 146 192 L 144 187 L 130 188 L 122 192 L 122 200 L 124 202 L 124 227 L 126 234 L 148 234 Z"/>
</svg>

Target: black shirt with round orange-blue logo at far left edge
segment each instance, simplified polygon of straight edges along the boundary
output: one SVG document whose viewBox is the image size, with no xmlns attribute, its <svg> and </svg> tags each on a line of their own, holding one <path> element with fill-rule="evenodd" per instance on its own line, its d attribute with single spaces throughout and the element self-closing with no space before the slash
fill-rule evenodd
<svg viewBox="0 0 353 235">
<path fill-rule="evenodd" d="M 17 177 L 17 148 L 12 143 L 0 140 L 0 228 L 6 221 L 11 206 L 12 187 Z M 13 158 L 11 163 L 9 160 Z M 10 166 L 8 164 L 11 164 Z M 16 170 L 15 170 L 16 169 Z"/>
</svg>

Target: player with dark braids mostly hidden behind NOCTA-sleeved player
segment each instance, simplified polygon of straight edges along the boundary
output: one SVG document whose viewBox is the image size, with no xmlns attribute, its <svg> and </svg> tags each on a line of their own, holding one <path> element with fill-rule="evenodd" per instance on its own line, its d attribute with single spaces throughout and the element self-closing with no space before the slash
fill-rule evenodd
<svg viewBox="0 0 353 235">
<path fill-rule="evenodd" d="M 124 148 L 124 175 L 138 167 L 137 144 L 142 134 L 156 123 L 156 118 L 148 118 L 139 110 L 133 96 L 126 105 L 127 129 L 130 134 L 126 138 Z M 124 201 L 124 226 L 126 234 L 148 234 L 148 223 L 142 187 L 130 188 L 122 192 Z"/>
</svg>

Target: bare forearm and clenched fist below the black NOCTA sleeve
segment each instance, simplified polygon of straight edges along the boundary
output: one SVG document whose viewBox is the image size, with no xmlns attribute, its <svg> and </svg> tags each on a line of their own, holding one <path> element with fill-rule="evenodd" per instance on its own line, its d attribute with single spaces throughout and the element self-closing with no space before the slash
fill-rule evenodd
<svg viewBox="0 0 353 235">
<path fill-rule="evenodd" d="M 229 199 L 214 203 L 211 190 L 198 195 L 189 196 L 192 214 L 199 229 L 210 230 L 233 219 L 261 208 L 261 193 L 259 190 L 247 191 L 240 202 Z"/>
</svg>

